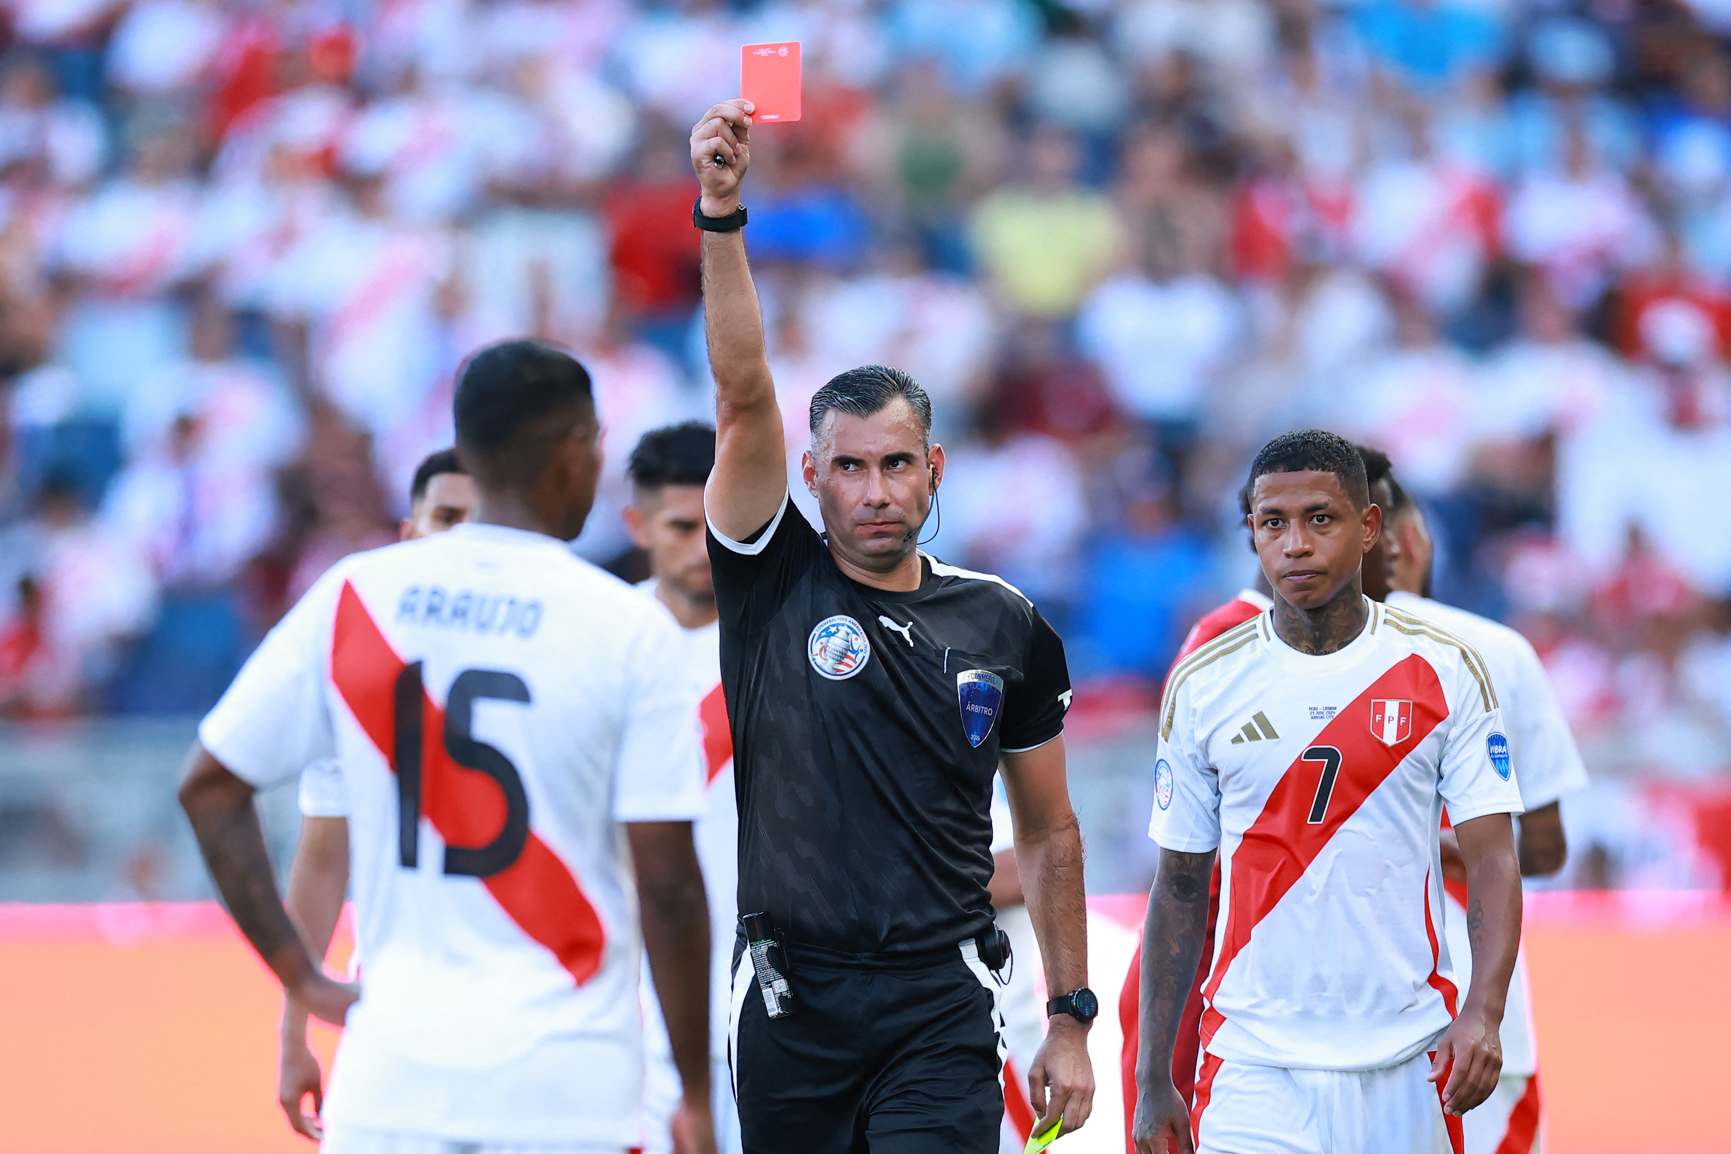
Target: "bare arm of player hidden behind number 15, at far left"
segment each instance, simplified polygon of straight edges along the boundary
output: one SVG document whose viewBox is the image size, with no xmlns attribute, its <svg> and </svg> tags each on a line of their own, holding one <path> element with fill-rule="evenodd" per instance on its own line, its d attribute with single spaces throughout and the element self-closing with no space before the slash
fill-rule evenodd
<svg viewBox="0 0 1731 1154">
<path fill-rule="evenodd" d="M 343 915 L 348 893 L 348 818 L 303 817 L 301 837 L 289 863 L 289 919 L 301 931 L 306 948 L 324 958 Z M 306 1010 L 282 998 L 282 1026 L 277 1038 L 277 1102 L 296 1133 L 324 1140 L 319 1116 L 324 1112 L 324 1078 L 319 1059 L 306 1045 Z M 303 1112 L 306 1095 L 313 1112 Z"/>
</svg>

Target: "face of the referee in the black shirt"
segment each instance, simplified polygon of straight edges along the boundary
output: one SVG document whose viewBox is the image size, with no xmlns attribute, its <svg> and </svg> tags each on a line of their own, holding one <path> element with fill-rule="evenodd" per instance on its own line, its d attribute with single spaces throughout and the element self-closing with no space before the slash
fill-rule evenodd
<svg viewBox="0 0 1731 1154">
<path fill-rule="evenodd" d="M 862 569 L 888 573 L 917 547 L 942 481 L 943 446 L 900 396 L 867 417 L 829 410 L 805 452 L 829 547 Z"/>
</svg>

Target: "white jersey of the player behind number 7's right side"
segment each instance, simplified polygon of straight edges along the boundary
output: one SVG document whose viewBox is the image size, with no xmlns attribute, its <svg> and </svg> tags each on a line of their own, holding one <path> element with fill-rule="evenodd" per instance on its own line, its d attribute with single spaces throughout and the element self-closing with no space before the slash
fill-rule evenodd
<svg viewBox="0 0 1731 1154">
<path fill-rule="evenodd" d="M 1387 604 L 1435 621 L 1483 656 L 1490 678 L 1503 694 L 1509 749 L 1515 765 L 1520 766 L 1520 799 L 1527 811 L 1587 787 L 1587 766 L 1580 761 L 1575 735 L 1556 704 L 1556 694 L 1551 692 L 1551 682 L 1532 642 L 1499 621 L 1416 593 L 1392 592 Z M 1464 990 L 1471 983 L 1473 953 L 1466 934 L 1466 908 L 1456 894 L 1449 894 L 1445 924 L 1449 952 Z M 1508 1007 L 1503 1012 L 1503 1076 L 1527 1078 L 1537 1071 L 1539 1045 L 1532 1026 L 1527 952 L 1522 950 L 1515 958 L 1515 978 L 1509 981 Z M 1489 1111 L 1483 1112 L 1483 1118 L 1489 1116 Z M 1468 1112 L 1466 1119 L 1468 1145 L 1471 1145 L 1473 1123 L 1480 1121 L 1480 1111 Z M 1496 1144 L 1490 1149 L 1496 1149 Z"/>
</svg>

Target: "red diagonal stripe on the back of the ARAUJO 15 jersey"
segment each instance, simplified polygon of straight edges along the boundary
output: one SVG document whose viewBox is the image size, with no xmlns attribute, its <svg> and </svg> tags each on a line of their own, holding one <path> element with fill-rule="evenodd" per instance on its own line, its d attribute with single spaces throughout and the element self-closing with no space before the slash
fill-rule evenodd
<svg viewBox="0 0 1731 1154">
<path fill-rule="evenodd" d="M 355 587 L 344 583 L 331 644 L 331 680 L 393 773 L 395 694 L 403 664 Z M 504 794 L 486 773 L 452 761 L 445 751 L 443 709 L 426 699 L 421 716 L 421 811 L 445 844 L 485 846 L 504 825 Z M 578 984 L 595 976 L 606 948 L 601 917 L 566 863 L 533 829 L 516 862 L 479 881 L 511 920 L 547 946 Z"/>
</svg>

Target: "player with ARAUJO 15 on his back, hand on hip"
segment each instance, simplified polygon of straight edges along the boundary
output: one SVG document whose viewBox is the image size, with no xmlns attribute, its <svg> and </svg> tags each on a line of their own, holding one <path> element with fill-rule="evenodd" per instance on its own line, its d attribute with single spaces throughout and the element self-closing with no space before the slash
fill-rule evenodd
<svg viewBox="0 0 1731 1154">
<path fill-rule="evenodd" d="M 601 465 L 582 365 L 490 346 L 462 370 L 455 424 L 473 521 L 320 578 L 201 723 L 182 806 L 287 997 L 346 1019 L 331 1154 L 635 1147 L 639 939 L 684 1083 L 682 1149 L 711 1154 L 682 638 L 564 545 Z M 320 756 L 348 801 L 358 990 L 296 933 L 253 806 Z"/>
</svg>

